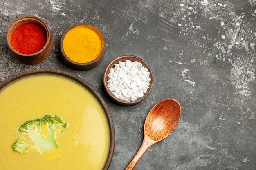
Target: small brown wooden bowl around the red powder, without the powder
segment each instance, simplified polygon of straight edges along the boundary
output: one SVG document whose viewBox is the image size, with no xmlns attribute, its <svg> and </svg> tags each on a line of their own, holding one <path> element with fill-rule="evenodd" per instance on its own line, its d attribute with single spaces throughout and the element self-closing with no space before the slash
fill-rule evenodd
<svg viewBox="0 0 256 170">
<path fill-rule="evenodd" d="M 47 41 L 43 49 L 41 49 L 40 51 L 34 54 L 22 54 L 13 49 L 13 47 L 11 46 L 11 35 L 18 26 L 31 22 L 43 26 L 43 28 L 47 32 Z M 11 22 L 9 28 L 7 29 L 6 40 L 11 55 L 19 62 L 27 65 L 35 65 L 45 61 L 49 57 L 53 47 L 53 36 L 49 27 L 43 20 L 35 16 L 22 16 Z"/>
</svg>

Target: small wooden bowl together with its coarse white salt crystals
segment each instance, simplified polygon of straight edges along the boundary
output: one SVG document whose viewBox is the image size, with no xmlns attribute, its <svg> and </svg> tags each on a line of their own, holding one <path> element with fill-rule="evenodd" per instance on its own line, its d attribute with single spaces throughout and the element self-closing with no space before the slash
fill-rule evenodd
<svg viewBox="0 0 256 170">
<path fill-rule="evenodd" d="M 103 84 L 110 98 L 124 106 L 135 105 L 145 99 L 153 82 L 148 63 L 133 55 L 115 58 L 103 75 Z"/>
</svg>

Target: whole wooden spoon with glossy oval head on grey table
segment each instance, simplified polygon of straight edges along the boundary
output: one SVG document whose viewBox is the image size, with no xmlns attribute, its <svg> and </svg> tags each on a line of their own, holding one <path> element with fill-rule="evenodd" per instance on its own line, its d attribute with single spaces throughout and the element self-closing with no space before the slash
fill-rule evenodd
<svg viewBox="0 0 256 170">
<path fill-rule="evenodd" d="M 180 120 L 180 114 L 181 107 L 175 99 L 165 99 L 150 110 L 144 124 L 141 147 L 125 170 L 132 170 L 150 146 L 173 132 Z"/>
</svg>

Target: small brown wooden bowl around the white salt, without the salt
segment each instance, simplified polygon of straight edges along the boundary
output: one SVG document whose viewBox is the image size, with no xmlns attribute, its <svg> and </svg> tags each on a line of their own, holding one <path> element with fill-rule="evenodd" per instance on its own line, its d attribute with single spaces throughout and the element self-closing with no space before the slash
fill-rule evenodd
<svg viewBox="0 0 256 170">
<path fill-rule="evenodd" d="M 130 102 L 126 102 L 124 100 L 117 99 L 111 93 L 111 91 L 108 89 L 108 82 L 107 82 L 108 81 L 108 73 L 110 72 L 111 68 L 114 68 L 114 64 L 119 63 L 119 61 L 124 62 L 125 60 L 130 60 L 132 62 L 135 62 L 135 61 L 140 62 L 142 64 L 142 66 L 148 68 L 148 71 L 150 73 L 149 77 L 151 79 L 150 85 L 148 86 L 149 87 L 148 91 L 143 95 L 143 97 L 141 97 L 141 98 L 139 98 L 135 101 L 130 101 Z M 113 99 L 114 102 L 116 102 L 117 104 L 120 104 L 120 105 L 123 105 L 123 106 L 132 106 L 132 105 L 138 104 L 139 102 L 144 100 L 148 96 L 150 91 L 152 90 L 153 83 L 154 83 L 154 77 L 153 77 L 152 70 L 151 70 L 150 66 L 148 65 L 148 63 L 146 63 L 144 60 L 142 60 L 141 58 L 136 57 L 134 55 L 122 55 L 120 57 L 115 58 L 114 60 L 112 60 L 112 62 L 110 62 L 110 64 L 108 64 L 108 66 L 106 68 L 106 71 L 104 72 L 104 75 L 103 75 L 103 84 L 104 84 L 105 90 L 108 93 L 109 97 L 111 99 Z"/>
</svg>

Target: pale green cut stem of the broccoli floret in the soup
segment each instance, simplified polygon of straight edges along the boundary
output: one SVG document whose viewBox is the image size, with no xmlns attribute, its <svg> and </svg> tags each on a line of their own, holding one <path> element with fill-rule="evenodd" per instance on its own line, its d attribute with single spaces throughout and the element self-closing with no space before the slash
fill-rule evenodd
<svg viewBox="0 0 256 170">
<path fill-rule="evenodd" d="M 29 130 L 27 132 L 28 132 L 28 135 L 31 138 L 31 140 L 35 143 L 35 147 L 41 153 L 45 153 L 50 150 L 54 150 L 58 147 L 58 144 L 56 143 L 55 138 L 54 138 L 54 130 L 53 130 L 53 133 L 51 133 L 51 134 L 49 133 L 49 137 L 47 139 L 45 139 L 43 134 L 36 133 L 33 130 Z"/>
</svg>

